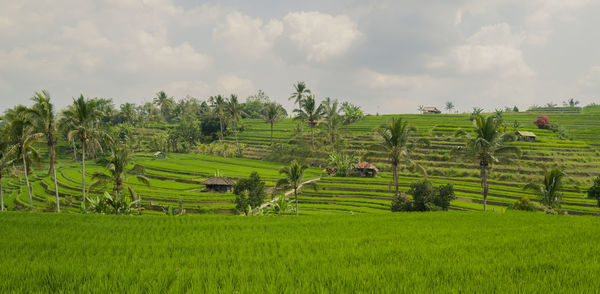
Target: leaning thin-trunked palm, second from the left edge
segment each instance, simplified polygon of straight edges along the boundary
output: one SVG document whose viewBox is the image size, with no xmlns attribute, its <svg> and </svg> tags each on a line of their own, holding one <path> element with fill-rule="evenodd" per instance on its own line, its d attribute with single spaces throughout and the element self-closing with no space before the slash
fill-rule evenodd
<svg viewBox="0 0 600 294">
<path fill-rule="evenodd" d="M 27 107 L 23 105 L 9 109 L 5 116 L 9 123 L 8 130 L 11 143 L 15 145 L 18 157 L 23 161 L 23 173 L 29 194 L 29 204 L 33 210 L 33 194 L 29 183 L 29 172 L 31 171 L 31 160 L 39 160 L 40 152 L 35 148 L 34 143 L 43 136 L 41 133 L 32 133 L 31 122 L 27 119 Z"/>
</svg>

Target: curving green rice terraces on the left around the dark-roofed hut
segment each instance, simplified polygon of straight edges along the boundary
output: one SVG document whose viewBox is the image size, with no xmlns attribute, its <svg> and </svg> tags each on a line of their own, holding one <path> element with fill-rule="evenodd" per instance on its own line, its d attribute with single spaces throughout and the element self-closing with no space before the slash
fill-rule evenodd
<svg viewBox="0 0 600 294">
<path fill-rule="evenodd" d="M 129 177 L 127 183 L 142 198 L 145 213 L 162 213 L 163 208 L 176 207 L 181 202 L 183 208 L 191 213 L 232 213 L 235 195 L 232 193 L 205 192 L 204 180 L 215 175 L 237 180 L 248 177 L 257 171 L 268 188 L 274 186 L 282 163 L 265 162 L 243 158 L 222 158 L 197 154 L 167 153 L 165 159 L 155 158 L 151 154 L 137 154 L 135 164 L 145 168 L 150 178 L 150 186 Z M 94 161 L 86 162 L 86 187 L 93 182 L 91 175 L 103 170 Z M 307 179 L 318 178 L 320 170 L 307 170 Z M 57 170 L 57 179 L 63 210 L 76 212 L 81 203 L 81 163 L 61 160 Z M 54 183 L 46 170 L 37 170 L 31 176 L 34 206 L 39 211 L 53 211 L 55 206 Z M 9 210 L 15 207 L 29 207 L 29 196 L 22 177 L 7 177 L 3 187 L 8 192 L 5 203 Z M 89 197 L 99 196 L 103 191 L 91 191 Z"/>
</svg>

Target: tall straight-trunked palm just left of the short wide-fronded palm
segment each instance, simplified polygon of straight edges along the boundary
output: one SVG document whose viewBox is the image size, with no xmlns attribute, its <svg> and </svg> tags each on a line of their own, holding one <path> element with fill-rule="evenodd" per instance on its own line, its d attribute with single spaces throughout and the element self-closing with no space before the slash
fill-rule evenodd
<svg viewBox="0 0 600 294">
<path fill-rule="evenodd" d="M 94 100 L 84 98 L 83 95 L 73 99 L 73 104 L 63 111 L 64 123 L 69 130 L 67 139 L 71 143 L 79 141 L 81 144 L 81 201 L 85 206 L 85 155 L 86 148 L 102 150 L 100 137 L 103 133 L 98 128 L 101 113 Z"/>
</svg>

